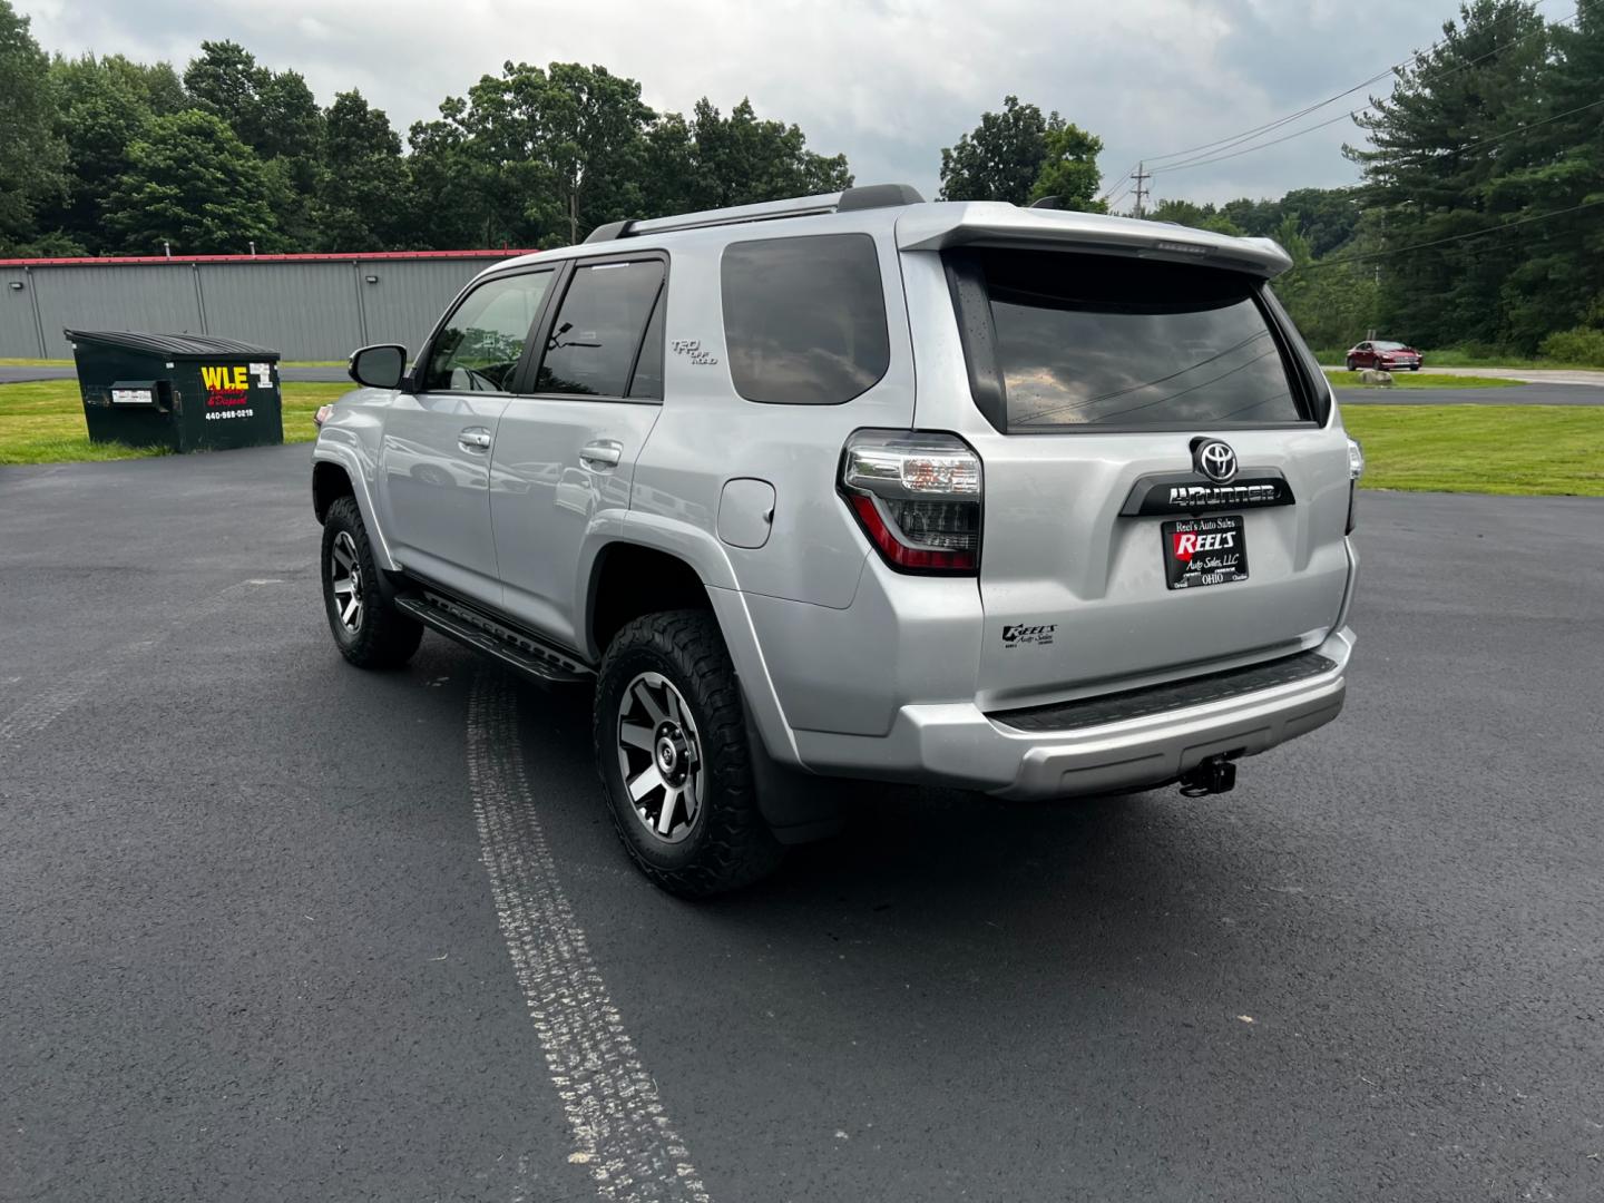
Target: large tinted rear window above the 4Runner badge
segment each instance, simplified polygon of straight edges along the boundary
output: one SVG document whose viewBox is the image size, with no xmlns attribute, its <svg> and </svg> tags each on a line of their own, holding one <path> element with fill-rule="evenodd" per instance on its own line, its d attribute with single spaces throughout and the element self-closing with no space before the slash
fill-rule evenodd
<svg viewBox="0 0 1604 1203">
<path fill-rule="evenodd" d="M 991 382 L 1011 431 L 1306 417 L 1254 279 L 1039 250 L 961 252 L 948 266 L 959 308 L 985 308 L 961 313 L 970 377 Z"/>
</svg>

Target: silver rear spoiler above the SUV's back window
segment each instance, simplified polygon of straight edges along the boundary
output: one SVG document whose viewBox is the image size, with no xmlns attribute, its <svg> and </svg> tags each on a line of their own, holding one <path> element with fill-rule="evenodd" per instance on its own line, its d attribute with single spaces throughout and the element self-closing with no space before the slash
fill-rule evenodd
<svg viewBox="0 0 1604 1203">
<path fill-rule="evenodd" d="M 909 205 L 897 218 L 900 250 L 1043 244 L 1097 255 L 1198 263 L 1264 279 L 1280 276 L 1293 265 L 1291 257 L 1267 237 L 1232 237 L 1169 221 L 1102 213 L 1015 209 L 994 200 Z"/>
</svg>

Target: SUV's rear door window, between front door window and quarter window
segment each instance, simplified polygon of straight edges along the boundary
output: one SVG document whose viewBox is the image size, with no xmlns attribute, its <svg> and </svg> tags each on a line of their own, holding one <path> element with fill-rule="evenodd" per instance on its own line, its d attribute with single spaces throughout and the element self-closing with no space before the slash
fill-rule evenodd
<svg viewBox="0 0 1604 1203">
<path fill-rule="evenodd" d="M 661 289 L 662 260 L 577 268 L 552 322 L 534 391 L 627 396 L 642 334 Z M 659 354 L 659 364 L 661 359 Z"/>
</svg>

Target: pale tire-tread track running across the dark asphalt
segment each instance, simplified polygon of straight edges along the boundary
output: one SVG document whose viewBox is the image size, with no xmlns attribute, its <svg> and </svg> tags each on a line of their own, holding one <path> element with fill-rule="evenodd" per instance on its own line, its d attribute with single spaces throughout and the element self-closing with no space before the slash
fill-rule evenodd
<svg viewBox="0 0 1604 1203">
<path fill-rule="evenodd" d="M 516 698 L 492 669 L 475 672 L 468 696 L 468 784 L 496 916 L 573 1136 L 568 1160 L 606 1200 L 709 1203 L 557 879 Z"/>
</svg>

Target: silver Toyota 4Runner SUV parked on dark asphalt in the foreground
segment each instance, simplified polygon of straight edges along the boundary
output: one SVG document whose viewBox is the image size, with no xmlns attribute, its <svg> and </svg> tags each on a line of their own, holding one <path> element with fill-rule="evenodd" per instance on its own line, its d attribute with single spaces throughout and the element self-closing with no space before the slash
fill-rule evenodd
<svg viewBox="0 0 1604 1203">
<path fill-rule="evenodd" d="M 905 186 L 624 221 L 351 356 L 340 651 L 593 683 L 613 821 L 698 895 L 829 778 L 1229 789 L 1343 707 L 1363 460 L 1264 239 Z"/>
</svg>

